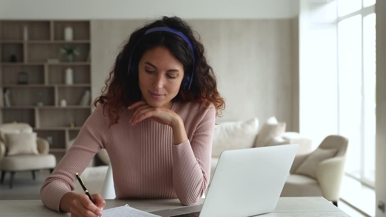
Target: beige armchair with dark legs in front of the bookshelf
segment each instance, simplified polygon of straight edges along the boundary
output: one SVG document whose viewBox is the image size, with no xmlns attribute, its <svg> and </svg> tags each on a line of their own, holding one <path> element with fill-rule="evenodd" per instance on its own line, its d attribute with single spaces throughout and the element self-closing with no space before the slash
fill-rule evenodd
<svg viewBox="0 0 386 217">
<path fill-rule="evenodd" d="M 46 139 L 37 137 L 37 151 L 36 154 L 15 154 L 7 155 L 4 135 L 9 132 L 15 133 L 32 133 L 32 127 L 26 123 L 7 123 L 0 125 L 0 170 L 1 184 L 3 184 L 4 177 L 10 173 L 9 187 L 12 188 L 12 181 L 14 180 L 15 172 L 31 171 L 32 178 L 35 179 L 35 171 L 47 169 L 52 170 L 56 166 L 56 158 L 53 154 L 49 154 L 49 143 Z"/>
</svg>

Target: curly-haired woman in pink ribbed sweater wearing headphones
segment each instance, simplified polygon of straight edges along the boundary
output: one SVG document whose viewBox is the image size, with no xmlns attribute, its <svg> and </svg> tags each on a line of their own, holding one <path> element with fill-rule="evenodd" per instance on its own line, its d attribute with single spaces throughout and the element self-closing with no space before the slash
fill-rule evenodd
<svg viewBox="0 0 386 217">
<path fill-rule="evenodd" d="M 42 202 L 74 216 L 101 215 L 105 200 L 72 190 L 75 172 L 106 149 L 117 198 L 196 203 L 208 186 L 215 117 L 225 108 L 191 27 L 163 17 L 134 31 L 115 60 L 95 111 L 41 188 Z M 91 180 L 90 180 L 91 181 Z"/>
</svg>

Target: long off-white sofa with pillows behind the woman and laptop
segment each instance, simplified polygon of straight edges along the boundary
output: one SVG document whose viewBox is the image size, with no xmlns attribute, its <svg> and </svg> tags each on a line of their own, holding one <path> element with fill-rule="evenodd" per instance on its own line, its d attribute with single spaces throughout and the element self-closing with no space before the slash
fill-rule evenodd
<svg viewBox="0 0 386 217">
<path fill-rule="evenodd" d="M 267 122 L 269 122 L 269 124 L 267 124 Z M 257 137 L 259 137 L 259 132 L 262 132 L 264 129 L 266 129 L 265 126 L 272 126 L 275 124 L 280 125 L 280 123 L 277 122 L 275 118 L 271 118 L 267 120 L 267 122 L 262 124 L 261 129 L 259 129 L 259 120 L 257 118 L 251 118 L 245 121 L 222 122 L 215 125 L 212 145 L 213 148 L 210 181 L 212 181 L 213 173 L 222 151 L 257 147 L 259 146 L 256 143 L 258 141 Z M 283 128 L 283 123 L 281 124 L 282 125 L 279 131 L 275 131 L 273 134 L 268 132 L 268 139 L 265 139 L 267 141 L 267 145 L 273 146 L 281 144 L 299 144 L 299 155 L 310 153 L 312 151 L 312 144 L 310 139 L 301 136 L 297 132 L 282 132 L 285 127 Z M 108 154 L 104 149 L 97 153 L 97 156 L 103 164 L 108 165 L 110 163 Z M 89 181 L 87 183 L 87 188 L 90 188 L 89 190 L 91 192 L 101 193 L 107 168 L 108 166 L 88 167 L 81 174 L 82 178 L 85 177 L 85 180 L 93 180 L 93 182 Z M 87 178 L 87 176 L 90 178 Z M 80 185 L 76 184 L 74 192 L 82 193 L 83 190 Z"/>
</svg>

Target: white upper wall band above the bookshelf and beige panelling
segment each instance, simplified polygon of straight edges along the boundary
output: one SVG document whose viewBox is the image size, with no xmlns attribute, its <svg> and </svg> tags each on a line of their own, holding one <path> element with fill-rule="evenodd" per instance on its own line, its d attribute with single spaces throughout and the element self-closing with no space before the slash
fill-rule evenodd
<svg viewBox="0 0 386 217">
<path fill-rule="evenodd" d="M 0 19 L 293 18 L 298 0 L 0 0 Z"/>
</svg>

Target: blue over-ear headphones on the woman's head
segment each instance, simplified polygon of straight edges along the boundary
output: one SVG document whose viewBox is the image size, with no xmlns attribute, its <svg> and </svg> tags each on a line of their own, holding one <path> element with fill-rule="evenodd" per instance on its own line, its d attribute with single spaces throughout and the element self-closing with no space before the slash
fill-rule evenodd
<svg viewBox="0 0 386 217">
<path fill-rule="evenodd" d="M 193 54 L 193 70 L 191 71 L 191 73 L 189 73 L 188 75 L 186 75 L 185 77 L 185 80 L 183 81 L 183 89 L 185 89 L 186 87 L 188 87 L 188 90 L 190 90 L 190 86 L 192 84 L 192 81 L 193 81 L 193 72 L 194 72 L 194 66 L 195 66 L 195 57 L 194 57 L 194 49 L 193 49 L 193 45 L 191 44 L 190 40 L 188 39 L 188 37 L 186 37 L 182 32 L 176 30 L 176 29 L 172 29 L 172 28 L 169 28 L 169 27 L 154 27 L 154 28 L 151 28 L 151 29 L 148 29 L 144 35 L 138 40 L 137 44 L 139 43 L 139 41 L 141 41 L 141 39 L 146 36 L 147 34 L 149 33 L 152 33 L 152 32 L 160 32 L 160 31 L 163 31 L 163 32 L 171 32 L 171 33 L 174 33 L 176 35 L 178 35 L 179 37 L 183 38 L 186 42 L 188 42 L 189 44 L 189 47 L 192 51 L 192 54 Z M 130 54 L 130 59 L 129 59 L 129 70 L 127 72 L 127 75 L 129 75 L 129 72 L 130 70 L 131 71 L 134 71 L 134 64 L 131 64 L 131 56 L 133 55 L 133 52 L 135 50 L 135 47 L 137 47 L 137 44 L 135 44 L 135 46 L 133 47 L 133 50 Z"/>
</svg>

